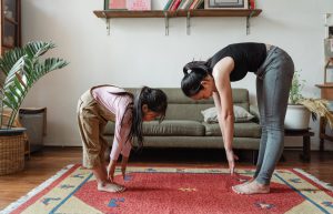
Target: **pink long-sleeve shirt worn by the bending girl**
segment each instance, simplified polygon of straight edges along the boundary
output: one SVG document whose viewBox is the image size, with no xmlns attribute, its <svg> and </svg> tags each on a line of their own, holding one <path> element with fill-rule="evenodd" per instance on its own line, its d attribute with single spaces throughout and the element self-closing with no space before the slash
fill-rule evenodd
<svg viewBox="0 0 333 214">
<path fill-rule="evenodd" d="M 99 104 L 103 105 L 115 116 L 114 137 L 110 159 L 117 161 L 120 153 L 125 157 L 130 156 L 132 145 L 130 141 L 127 142 L 127 139 L 132 125 L 132 112 L 125 112 L 125 109 L 132 102 L 132 99 L 128 95 L 113 94 L 114 92 L 125 91 L 117 86 L 107 85 L 95 88 L 91 93 Z M 121 121 L 122 118 L 123 122 Z"/>
</svg>

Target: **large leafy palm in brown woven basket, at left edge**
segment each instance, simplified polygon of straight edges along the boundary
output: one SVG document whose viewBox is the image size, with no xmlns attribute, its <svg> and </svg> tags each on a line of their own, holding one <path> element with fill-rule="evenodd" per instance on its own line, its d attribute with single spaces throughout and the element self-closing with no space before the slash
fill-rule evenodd
<svg viewBox="0 0 333 214">
<path fill-rule="evenodd" d="M 41 77 L 68 64 L 58 58 L 41 59 L 53 48 L 52 42 L 29 42 L 0 59 L 0 175 L 24 166 L 24 129 L 14 126 L 28 91 Z"/>
</svg>

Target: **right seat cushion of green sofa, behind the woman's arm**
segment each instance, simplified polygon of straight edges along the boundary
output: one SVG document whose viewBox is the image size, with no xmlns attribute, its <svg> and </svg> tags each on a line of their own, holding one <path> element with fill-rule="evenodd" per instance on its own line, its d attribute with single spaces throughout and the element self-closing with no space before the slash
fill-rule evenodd
<svg viewBox="0 0 333 214">
<path fill-rule="evenodd" d="M 221 136 L 219 123 L 202 123 L 205 126 L 208 136 Z M 261 137 L 261 128 L 258 123 L 234 123 L 234 136 L 238 137 Z"/>
</svg>

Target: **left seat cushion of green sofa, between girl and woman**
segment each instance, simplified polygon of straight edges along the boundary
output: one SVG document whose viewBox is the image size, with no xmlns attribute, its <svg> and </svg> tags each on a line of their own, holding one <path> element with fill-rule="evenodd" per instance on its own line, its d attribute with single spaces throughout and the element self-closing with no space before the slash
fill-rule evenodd
<svg viewBox="0 0 333 214">
<path fill-rule="evenodd" d="M 164 120 L 160 124 L 158 121 L 143 123 L 143 134 L 150 136 L 203 136 L 204 132 L 204 125 L 198 121 Z"/>
</svg>

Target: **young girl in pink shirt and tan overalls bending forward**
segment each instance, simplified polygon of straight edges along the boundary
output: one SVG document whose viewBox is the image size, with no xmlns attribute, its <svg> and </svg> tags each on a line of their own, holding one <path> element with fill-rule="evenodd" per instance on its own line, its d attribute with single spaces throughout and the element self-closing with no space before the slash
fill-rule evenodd
<svg viewBox="0 0 333 214">
<path fill-rule="evenodd" d="M 113 85 L 93 86 L 78 103 L 78 122 L 83 144 L 83 166 L 91 169 L 98 190 L 122 192 L 124 187 L 113 181 L 117 160 L 122 154 L 121 172 L 124 177 L 133 139 L 142 146 L 142 122 L 164 119 L 167 95 L 159 89 L 143 86 L 135 96 Z M 108 121 L 115 122 L 110 163 L 105 167 L 103 137 Z"/>
</svg>

